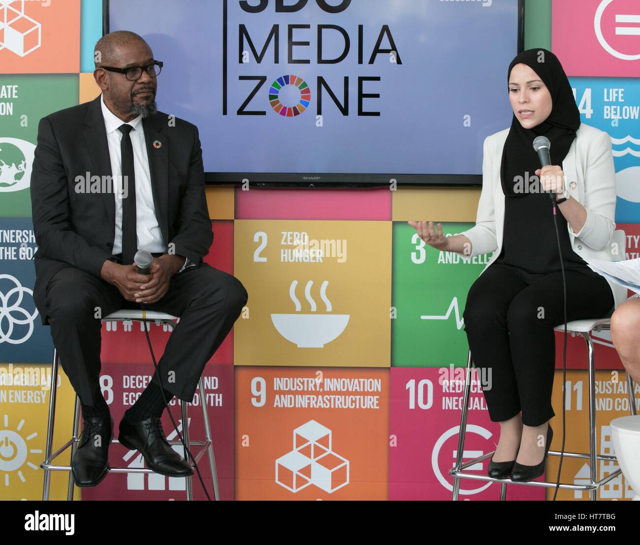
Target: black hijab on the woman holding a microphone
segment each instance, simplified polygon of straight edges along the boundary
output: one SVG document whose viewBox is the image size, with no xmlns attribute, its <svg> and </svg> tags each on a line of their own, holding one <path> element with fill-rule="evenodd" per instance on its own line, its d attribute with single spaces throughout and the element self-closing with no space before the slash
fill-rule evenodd
<svg viewBox="0 0 640 545">
<path fill-rule="evenodd" d="M 539 62 L 540 60 L 543 60 Z M 551 164 L 562 165 L 564 157 L 569 151 L 575 133 L 580 127 L 580 112 L 573 98 L 573 91 L 563 67 L 557 57 L 547 49 L 527 49 L 516 56 L 507 72 L 507 83 L 511 75 L 511 68 L 523 63 L 538 74 L 545 83 L 552 99 L 552 110 L 548 118 L 532 129 L 525 129 L 513 114 L 511 129 L 504 143 L 502 164 L 500 166 L 500 180 L 502 191 L 506 196 L 522 197 L 522 191 L 515 193 L 515 177 L 529 177 L 535 175 L 540 168 L 540 159 L 533 149 L 536 136 L 546 136 L 551 142 Z M 510 91 L 508 91 L 510 92 Z"/>
</svg>

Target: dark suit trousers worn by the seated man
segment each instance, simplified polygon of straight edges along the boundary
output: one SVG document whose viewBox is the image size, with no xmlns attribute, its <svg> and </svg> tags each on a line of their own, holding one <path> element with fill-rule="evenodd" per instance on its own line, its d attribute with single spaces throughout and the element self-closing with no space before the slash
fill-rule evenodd
<svg viewBox="0 0 640 545">
<path fill-rule="evenodd" d="M 235 276 L 207 265 L 172 276 L 168 292 L 148 310 L 179 316 L 158 361 L 164 389 L 191 401 L 204 366 L 236 322 L 248 294 Z M 47 285 L 47 314 L 60 365 L 85 405 L 95 404 L 99 390 L 100 327 L 96 309 L 106 316 L 120 308 L 138 308 L 108 282 L 69 267 Z M 149 354 L 149 359 L 151 358 Z M 159 384 L 154 370 L 152 382 Z"/>
</svg>

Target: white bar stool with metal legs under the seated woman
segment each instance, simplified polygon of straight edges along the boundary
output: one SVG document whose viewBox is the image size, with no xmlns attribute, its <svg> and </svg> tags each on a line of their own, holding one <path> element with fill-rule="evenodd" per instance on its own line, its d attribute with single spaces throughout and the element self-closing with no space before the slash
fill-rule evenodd
<svg viewBox="0 0 640 545">
<path fill-rule="evenodd" d="M 568 322 L 566 324 L 567 333 L 570 333 L 572 337 L 575 335 L 581 335 L 582 338 L 587 343 L 588 349 L 588 374 L 589 374 L 589 452 L 588 454 L 582 454 L 577 452 L 565 452 L 564 457 L 567 458 L 586 458 L 589 459 L 589 469 L 591 471 L 590 479 L 588 484 L 568 484 L 561 483 L 559 488 L 561 489 L 569 489 L 569 490 L 582 490 L 588 491 L 590 499 L 595 501 L 598 499 L 598 488 L 602 485 L 609 482 L 611 479 L 618 477 L 620 475 L 621 470 L 618 469 L 613 473 L 607 475 L 607 477 L 602 478 L 602 480 L 597 480 L 597 461 L 598 460 L 606 460 L 618 462 L 616 456 L 614 455 L 606 455 L 606 454 L 597 454 L 596 449 L 596 402 L 595 402 L 595 361 L 594 361 L 594 352 L 593 352 L 593 340 L 591 339 L 591 335 L 589 333 L 591 331 L 601 331 L 602 329 L 608 330 L 611 328 L 611 318 L 599 319 L 599 320 L 574 320 L 573 322 Z M 554 328 L 556 331 L 564 332 L 564 324 L 557 326 Z M 471 375 L 471 351 L 468 352 L 467 358 L 467 372 L 465 374 L 465 394 L 464 401 L 462 407 L 462 415 L 460 418 L 460 434 L 458 436 L 458 452 L 456 453 L 456 464 L 453 466 L 451 470 L 449 470 L 449 475 L 453 475 L 453 497 L 452 500 L 455 502 L 458 500 L 458 496 L 460 493 L 460 479 L 468 478 L 472 480 L 486 480 L 499 482 L 502 486 L 500 487 L 500 500 L 506 500 L 507 493 L 507 484 L 517 484 L 520 486 L 543 486 L 547 488 L 555 488 L 556 482 L 548 482 L 548 481 L 529 481 L 529 482 L 513 482 L 511 479 L 497 479 L 489 477 L 488 475 L 477 475 L 477 473 L 470 473 L 465 471 L 466 468 L 476 464 L 477 462 L 482 462 L 487 458 L 491 458 L 493 456 L 492 452 L 488 454 L 484 454 L 479 456 L 471 461 L 462 463 L 462 455 L 465 447 L 465 433 L 467 431 L 467 411 L 468 411 L 468 403 L 469 403 L 469 392 L 471 387 L 470 375 Z M 628 397 L 630 404 L 630 413 L 632 416 L 636 415 L 636 405 L 634 400 L 634 381 L 627 373 L 627 388 L 628 388 Z M 549 450 L 548 455 L 550 456 L 559 456 L 561 453 L 557 450 Z M 545 475 L 546 477 L 546 475 Z"/>
</svg>

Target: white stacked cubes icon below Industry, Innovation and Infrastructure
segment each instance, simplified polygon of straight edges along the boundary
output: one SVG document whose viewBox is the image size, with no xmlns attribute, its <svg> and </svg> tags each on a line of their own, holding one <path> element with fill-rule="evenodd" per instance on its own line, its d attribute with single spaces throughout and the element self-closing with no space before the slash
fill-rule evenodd
<svg viewBox="0 0 640 545">
<path fill-rule="evenodd" d="M 293 493 L 313 484 L 331 494 L 349 484 L 349 461 L 332 451 L 332 431 L 309 420 L 293 430 L 293 450 L 276 460 L 276 482 Z"/>
</svg>

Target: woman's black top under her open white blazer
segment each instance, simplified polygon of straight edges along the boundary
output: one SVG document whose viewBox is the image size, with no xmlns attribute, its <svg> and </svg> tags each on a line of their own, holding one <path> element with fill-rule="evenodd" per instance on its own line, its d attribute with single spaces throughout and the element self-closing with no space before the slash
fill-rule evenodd
<svg viewBox="0 0 640 545">
<path fill-rule="evenodd" d="M 567 221 L 556 207 L 556 221 L 565 270 L 589 276 L 592 271 L 571 246 Z M 527 193 L 504 199 L 504 237 L 502 251 L 495 264 L 509 265 L 520 276 L 535 277 L 561 271 L 553 205 L 548 193 Z"/>
</svg>

